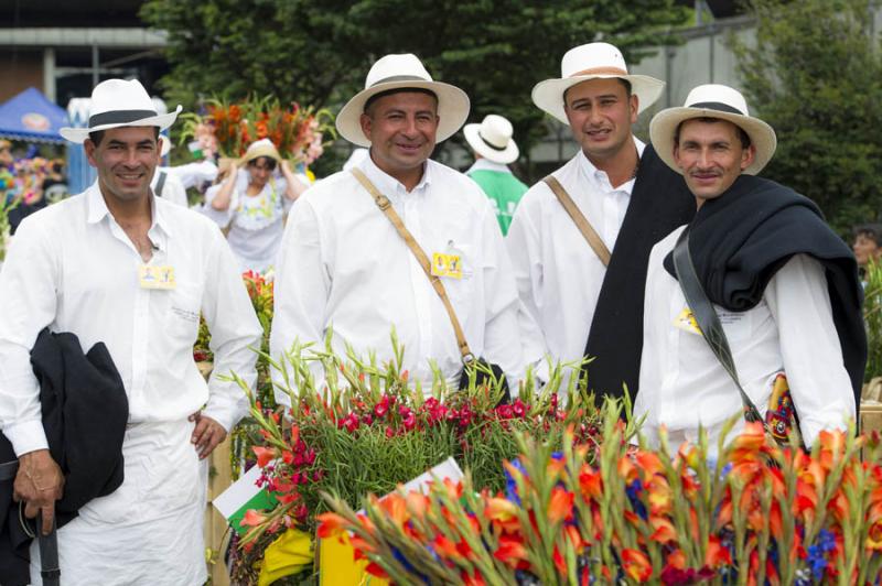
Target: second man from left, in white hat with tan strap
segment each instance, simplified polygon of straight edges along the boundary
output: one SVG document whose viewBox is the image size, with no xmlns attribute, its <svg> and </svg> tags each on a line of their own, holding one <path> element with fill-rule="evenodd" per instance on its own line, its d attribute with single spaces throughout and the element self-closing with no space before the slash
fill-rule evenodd
<svg viewBox="0 0 882 586">
<path fill-rule="evenodd" d="M 349 343 L 386 361 L 395 327 L 402 368 L 423 389 L 430 360 L 455 384 L 466 350 L 519 378 L 517 293 L 493 208 L 477 184 L 429 159 L 467 116 L 465 93 L 432 80 L 415 55 L 374 64 L 365 89 L 336 119 L 340 134 L 369 148 L 369 156 L 308 189 L 291 210 L 276 276 L 272 356 L 297 339 L 321 347 L 333 328 L 341 356 Z M 389 211 L 422 249 L 424 264 Z M 433 283 L 443 285 L 458 326 Z"/>
</svg>

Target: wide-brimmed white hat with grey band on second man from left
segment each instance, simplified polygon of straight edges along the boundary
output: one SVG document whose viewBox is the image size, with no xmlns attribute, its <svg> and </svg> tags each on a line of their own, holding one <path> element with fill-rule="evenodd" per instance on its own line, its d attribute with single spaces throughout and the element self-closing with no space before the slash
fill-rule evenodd
<svg viewBox="0 0 882 586">
<path fill-rule="evenodd" d="M 362 131 L 361 118 L 365 104 L 383 91 L 409 88 L 428 89 L 438 97 L 435 142 L 455 134 L 469 118 L 470 102 L 465 91 L 450 84 L 433 82 L 416 55 L 386 55 L 370 67 L 365 88 L 340 110 L 336 120 L 340 135 L 358 146 L 370 146 L 370 141 Z"/>
</svg>

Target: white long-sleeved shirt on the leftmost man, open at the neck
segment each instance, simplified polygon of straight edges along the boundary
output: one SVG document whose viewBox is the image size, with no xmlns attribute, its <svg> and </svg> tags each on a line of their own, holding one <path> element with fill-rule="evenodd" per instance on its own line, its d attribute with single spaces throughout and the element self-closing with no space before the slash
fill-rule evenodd
<svg viewBox="0 0 882 586">
<path fill-rule="evenodd" d="M 237 263 L 217 227 L 195 211 L 151 198 L 148 264 L 172 267 L 174 290 L 141 289 L 143 261 L 108 211 L 97 182 L 22 221 L 0 273 L 0 428 L 17 454 L 46 447 L 30 350 L 46 326 L 103 341 L 129 401 L 129 421 L 180 421 L 203 413 L 229 430 L 247 399 L 233 382 L 206 384 L 193 360 L 200 312 L 212 332 L 215 372 L 254 384 L 261 328 Z"/>
</svg>

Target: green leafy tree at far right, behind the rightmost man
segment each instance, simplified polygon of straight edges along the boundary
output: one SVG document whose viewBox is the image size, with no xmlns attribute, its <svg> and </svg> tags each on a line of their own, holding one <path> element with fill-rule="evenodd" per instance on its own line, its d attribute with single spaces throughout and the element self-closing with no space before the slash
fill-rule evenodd
<svg viewBox="0 0 882 586">
<path fill-rule="evenodd" d="M 763 174 L 814 199 L 840 234 L 882 211 L 882 61 L 872 0 L 752 0 L 733 42 L 753 113 L 777 152 Z"/>
</svg>

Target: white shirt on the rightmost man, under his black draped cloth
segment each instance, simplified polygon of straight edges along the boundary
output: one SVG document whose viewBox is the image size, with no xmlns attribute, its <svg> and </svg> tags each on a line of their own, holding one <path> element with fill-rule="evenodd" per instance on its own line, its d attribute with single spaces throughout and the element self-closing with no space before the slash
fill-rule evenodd
<svg viewBox="0 0 882 586">
<path fill-rule="evenodd" d="M 663 261 L 678 228 L 649 256 L 644 301 L 643 359 L 634 415 L 656 441 L 660 425 L 673 438 L 696 442 L 699 423 L 711 445 L 732 415 L 742 412 L 738 388 L 707 341 L 684 319 L 686 299 Z M 825 428 L 843 428 L 854 416 L 854 395 L 830 308 L 824 267 L 797 254 L 770 280 L 762 301 L 746 312 L 714 306 L 729 339 L 741 386 L 765 416 L 772 384 L 785 372 L 807 445 Z M 743 426 L 739 420 L 734 431 Z M 676 445 L 676 444 L 675 444 Z"/>
</svg>

